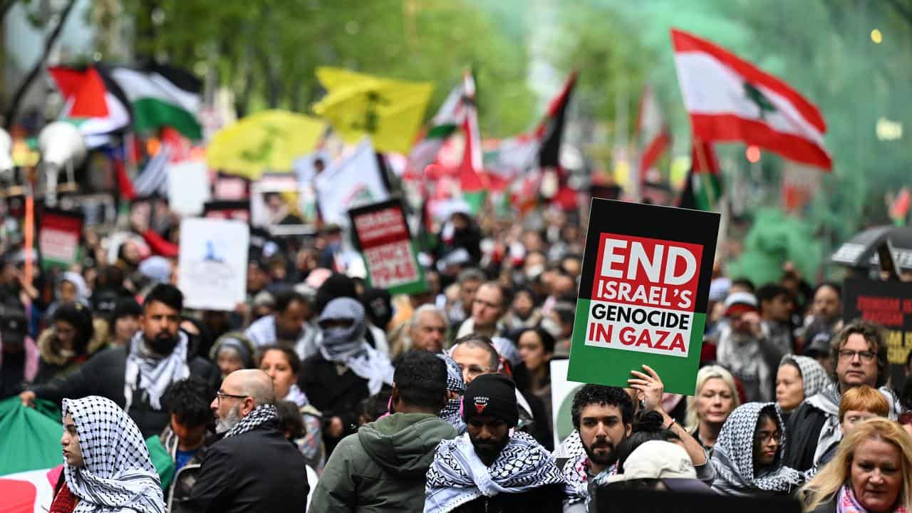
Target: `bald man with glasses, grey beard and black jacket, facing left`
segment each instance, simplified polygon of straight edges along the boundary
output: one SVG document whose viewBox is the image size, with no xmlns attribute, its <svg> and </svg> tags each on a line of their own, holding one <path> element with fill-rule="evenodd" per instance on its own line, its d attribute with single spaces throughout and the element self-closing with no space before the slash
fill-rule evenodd
<svg viewBox="0 0 912 513">
<path fill-rule="evenodd" d="M 304 455 L 279 431 L 273 403 L 265 372 L 228 374 L 211 404 L 222 439 L 202 460 L 190 497 L 175 497 L 174 511 L 305 511 Z"/>
</svg>

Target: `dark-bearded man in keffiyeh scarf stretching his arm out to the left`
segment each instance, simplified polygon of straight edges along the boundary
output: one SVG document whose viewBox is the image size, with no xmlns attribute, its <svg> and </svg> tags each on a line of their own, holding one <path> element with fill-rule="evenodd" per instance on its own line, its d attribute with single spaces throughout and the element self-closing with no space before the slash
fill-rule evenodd
<svg viewBox="0 0 912 513">
<path fill-rule="evenodd" d="M 161 433 L 170 421 L 161 405 L 168 386 L 193 374 L 215 388 L 219 371 L 209 361 L 189 356 L 187 335 L 180 330 L 180 290 L 157 285 L 142 307 L 140 331 L 127 347 L 101 351 L 66 378 L 20 393 L 22 402 L 31 405 L 36 397 L 59 402 L 65 397 L 101 395 L 129 413 L 144 437 Z"/>
</svg>

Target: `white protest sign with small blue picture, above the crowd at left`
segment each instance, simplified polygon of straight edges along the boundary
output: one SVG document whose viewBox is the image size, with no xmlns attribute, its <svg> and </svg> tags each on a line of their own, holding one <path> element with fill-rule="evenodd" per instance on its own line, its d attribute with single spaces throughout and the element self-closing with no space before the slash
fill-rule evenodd
<svg viewBox="0 0 912 513">
<path fill-rule="evenodd" d="M 191 309 L 233 310 L 247 289 L 250 228 L 240 221 L 181 221 L 178 288 Z"/>
</svg>

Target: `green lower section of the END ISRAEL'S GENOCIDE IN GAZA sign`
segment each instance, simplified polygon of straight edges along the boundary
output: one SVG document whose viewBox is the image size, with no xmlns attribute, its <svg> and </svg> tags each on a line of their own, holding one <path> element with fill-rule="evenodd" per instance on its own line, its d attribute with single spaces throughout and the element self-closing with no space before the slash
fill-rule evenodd
<svg viewBox="0 0 912 513">
<path fill-rule="evenodd" d="M 585 298 L 580 298 L 576 302 L 573 345 L 570 349 L 570 367 L 567 370 L 568 380 L 627 387 L 630 371 L 642 371 L 643 365 L 648 365 L 658 372 L 658 376 L 665 384 L 665 392 L 693 395 L 697 384 L 697 371 L 700 367 L 700 349 L 703 346 L 706 314 L 694 312 L 688 356 L 681 358 L 649 352 L 587 346 L 586 327 L 589 320 L 590 302 Z"/>
</svg>

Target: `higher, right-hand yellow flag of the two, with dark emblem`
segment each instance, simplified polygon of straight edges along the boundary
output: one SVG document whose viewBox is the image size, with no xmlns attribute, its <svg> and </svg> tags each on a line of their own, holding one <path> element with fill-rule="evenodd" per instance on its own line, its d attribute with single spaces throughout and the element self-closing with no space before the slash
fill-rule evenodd
<svg viewBox="0 0 912 513">
<path fill-rule="evenodd" d="M 381 152 L 407 154 L 421 127 L 434 86 L 382 79 L 347 69 L 316 68 L 328 94 L 314 105 L 349 143 L 368 135 Z"/>
</svg>

